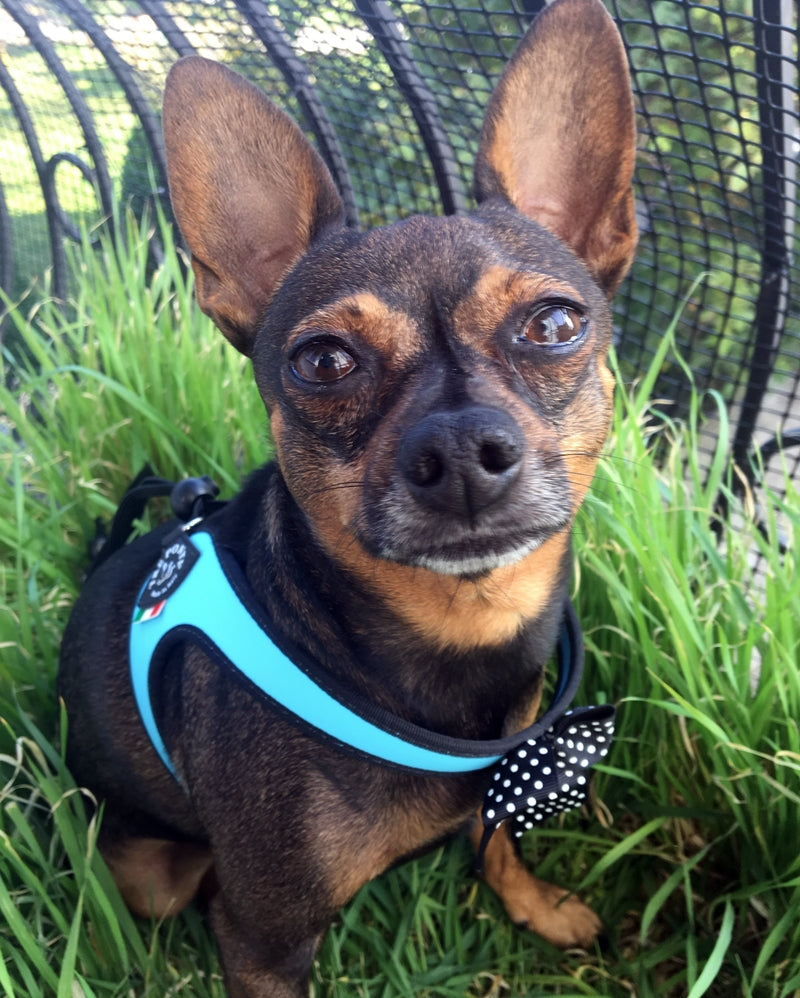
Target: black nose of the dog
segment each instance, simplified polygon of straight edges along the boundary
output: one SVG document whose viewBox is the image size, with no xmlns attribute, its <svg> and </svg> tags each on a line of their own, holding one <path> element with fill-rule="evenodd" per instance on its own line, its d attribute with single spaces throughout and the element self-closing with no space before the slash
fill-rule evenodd
<svg viewBox="0 0 800 998">
<path fill-rule="evenodd" d="M 525 438 L 500 409 L 471 406 L 426 416 L 403 438 L 398 465 L 411 494 L 432 509 L 472 518 L 516 480 Z"/>
</svg>

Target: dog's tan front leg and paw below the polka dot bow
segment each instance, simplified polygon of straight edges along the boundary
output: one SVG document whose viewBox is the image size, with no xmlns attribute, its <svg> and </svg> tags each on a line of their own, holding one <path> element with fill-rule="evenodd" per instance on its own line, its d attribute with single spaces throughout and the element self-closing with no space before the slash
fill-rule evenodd
<svg viewBox="0 0 800 998">
<path fill-rule="evenodd" d="M 482 832 L 478 817 L 470 831 L 476 850 Z M 553 946 L 591 946 L 603 928 L 597 915 L 578 898 L 533 876 L 520 859 L 506 825 L 489 840 L 483 855 L 483 877 L 515 925 L 531 929 Z"/>
</svg>

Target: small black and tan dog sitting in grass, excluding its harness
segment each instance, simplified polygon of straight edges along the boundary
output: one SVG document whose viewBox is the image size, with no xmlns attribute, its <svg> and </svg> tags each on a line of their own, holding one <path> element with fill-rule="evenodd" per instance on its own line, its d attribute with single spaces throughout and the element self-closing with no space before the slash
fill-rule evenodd
<svg viewBox="0 0 800 998">
<path fill-rule="evenodd" d="M 570 531 L 606 436 L 608 300 L 635 246 L 635 130 L 600 0 L 556 0 L 488 107 L 478 207 L 348 229 L 298 127 L 199 58 L 170 73 L 170 191 L 197 297 L 252 359 L 277 460 L 212 516 L 260 607 L 332 681 L 428 730 L 496 739 L 539 710 Z M 209 372 L 213 377 L 213 372 Z M 467 829 L 486 773 L 382 766 L 310 736 L 190 638 L 159 673 L 164 766 L 134 702 L 128 620 L 154 533 L 89 579 L 59 690 L 76 779 L 130 907 L 208 898 L 231 998 L 299 998 L 336 910 Z M 514 922 L 588 945 L 597 917 L 526 871 Z"/>
</svg>

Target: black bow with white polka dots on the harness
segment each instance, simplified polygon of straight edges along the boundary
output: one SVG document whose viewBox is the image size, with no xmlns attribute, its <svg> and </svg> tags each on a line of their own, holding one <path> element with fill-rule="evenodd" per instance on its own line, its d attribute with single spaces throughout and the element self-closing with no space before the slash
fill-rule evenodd
<svg viewBox="0 0 800 998">
<path fill-rule="evenodd" d="M 504 756 L 483 803 L 483 824 L 497 828 L 512 821 L 520 838 L 546 818 L 578 807 L 589 789 L 589 767 L 608 753 L 614 735 L 614 708 L 568 710 L 538 738 Z"/>
</svg>

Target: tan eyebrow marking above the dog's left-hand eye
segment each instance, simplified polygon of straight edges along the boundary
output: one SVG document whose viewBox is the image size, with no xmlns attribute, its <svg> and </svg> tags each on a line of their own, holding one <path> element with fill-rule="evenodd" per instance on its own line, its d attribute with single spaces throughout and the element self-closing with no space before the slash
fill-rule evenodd
<svg viewBox="0 0 800 998">
<path fill-rule="evenodd" d="M 390 366 L 412 357 L 421 347 L 419 331 L 411 316 L 391 308 L 368 291 L 340 298 L 307 315 L 292 330 L 289 349 L 301 336 L 315 329 L 340 331 L 363 339 L 382 353 Z"/>
</svg>

